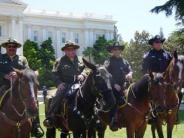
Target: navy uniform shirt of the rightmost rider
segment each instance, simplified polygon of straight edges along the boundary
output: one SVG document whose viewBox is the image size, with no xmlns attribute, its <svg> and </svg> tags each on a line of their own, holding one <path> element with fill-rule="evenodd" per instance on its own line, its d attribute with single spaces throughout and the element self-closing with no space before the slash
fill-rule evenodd
<svg viewBox="0 0 184 138">
<path fill-rule="evenodd" d="M 163 73 L 167 69 L 172 57 L 169 52 L 161 49 L 150 50 L 143 57 L 142 69 L 143 73 L 156 72 Z"/>
</svg>

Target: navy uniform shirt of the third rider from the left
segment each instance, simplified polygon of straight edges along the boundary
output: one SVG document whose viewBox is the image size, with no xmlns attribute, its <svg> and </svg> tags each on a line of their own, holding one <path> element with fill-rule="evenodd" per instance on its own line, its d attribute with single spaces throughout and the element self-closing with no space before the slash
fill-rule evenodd
<svg viewBox="0 0 184 138">
<path fill-rule="evenodd" d="M 110 57 L 104 64 L 112 74 L 112 85 L 122 86 L 125 82 L 125 76 L 132 71 L 128 61 L 122 58 Z"/>
</svg>

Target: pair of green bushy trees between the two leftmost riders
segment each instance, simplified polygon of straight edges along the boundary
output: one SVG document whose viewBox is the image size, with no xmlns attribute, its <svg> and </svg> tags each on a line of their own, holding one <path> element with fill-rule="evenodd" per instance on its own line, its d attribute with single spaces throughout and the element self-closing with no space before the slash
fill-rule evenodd
<svg viewBox="0 0 184 138">
<path fill-rule="evenodd" d="M 55 53 L 52 46 L 52 40 L 49 38 L 44 41 L 40 48 L 36 42 L 27 40 L 24 43 L 24 55 L 26 56 L 29 66 L 33 70 L 39 71 L 40 86 L 54 86 L 52 81 L 52 66 L 55 61 Z"/>
</svg>

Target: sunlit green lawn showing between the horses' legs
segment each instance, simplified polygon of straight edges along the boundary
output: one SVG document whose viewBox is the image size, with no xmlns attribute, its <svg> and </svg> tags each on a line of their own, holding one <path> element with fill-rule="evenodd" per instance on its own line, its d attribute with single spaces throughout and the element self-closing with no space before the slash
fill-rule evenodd
<svg viewBox="0 0 184 138">
<path fill-rule="evenodd" d="M 40 105 L 41 125 L 43 124 L 42 122 L 43 122 L 44 118 L 45 118 L 44 104 L 41 104 Z M 182 123 L 174 127 L 173 138 L 184 138 L 184 111 L 180 111 L 180 119 L 181 119 Z M 164 127 L 164 134 L 166 134 L 166 127 Z M 147 127 L 146 134 L 144 137 L 145 138 L 152 138 L 149 125 Z M 57 133 L 57 138 L 59 138 L 58 133 Z M 126 131 L 125 131 L 125 129 L 121 129 L 118 132 L 112 132 L 108 129 L 106 131 L 105 138 L 126 138 Z"/>
</svg>

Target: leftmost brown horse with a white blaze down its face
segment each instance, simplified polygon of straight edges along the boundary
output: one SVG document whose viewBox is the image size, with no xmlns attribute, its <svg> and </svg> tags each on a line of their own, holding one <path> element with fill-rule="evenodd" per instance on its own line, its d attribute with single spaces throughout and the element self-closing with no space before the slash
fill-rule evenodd
<svg viewBox="0 0 184 138">
<path fill-rule="evenodd" d="M 0 138 L 29 138 L 31 118 L 37 114 L 37 76 L 34 71 L 16 70 L 18 77 L 11 84 L 0 109 Z"/>
</svg>

